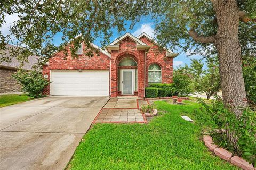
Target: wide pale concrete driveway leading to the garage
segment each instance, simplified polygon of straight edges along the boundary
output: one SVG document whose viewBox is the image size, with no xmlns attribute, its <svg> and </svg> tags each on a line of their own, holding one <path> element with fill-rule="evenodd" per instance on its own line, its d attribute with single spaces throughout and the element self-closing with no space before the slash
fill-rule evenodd
<svg viewBox="0 0 256 170">
<path fill-rule="evenodd" d="M 0 169 L 64 169 L 108 97 L 46 97 L 0 108 Z"/>
</svg>

